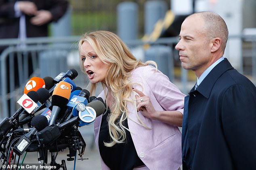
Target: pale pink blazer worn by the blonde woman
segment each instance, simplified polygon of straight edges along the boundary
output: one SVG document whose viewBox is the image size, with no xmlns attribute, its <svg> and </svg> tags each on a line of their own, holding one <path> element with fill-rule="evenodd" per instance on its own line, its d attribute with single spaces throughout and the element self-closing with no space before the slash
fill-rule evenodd
<svg viewBox="0 0 256 170">
<path fill-rule="evenodd" d="M 153 66 L 136 68 L 132 72 L 133 87 L 149 96 L 155 110 L 180 111 L 183 114 L 185 94 L 170 82 L 169 78 Z M 141 84 L 138 85 L 138 84 Z M 98 97 L 105 100 L 104 92 Z M 144 117 L 136 110 L 135 92 L 131 95 L 134 103 L 128 103 L 128 127 L 136 152 L 150 170 L 177 170 L 181 164 L 181 133 L 178 127 Z M 140 125 L 137 115 L 148 128 Z M 99 149 L 99 129 L 102 115 L 94 122 L 94 135 Z M 102 170 L 110 170 L 101 159 Z"/>
</svg>

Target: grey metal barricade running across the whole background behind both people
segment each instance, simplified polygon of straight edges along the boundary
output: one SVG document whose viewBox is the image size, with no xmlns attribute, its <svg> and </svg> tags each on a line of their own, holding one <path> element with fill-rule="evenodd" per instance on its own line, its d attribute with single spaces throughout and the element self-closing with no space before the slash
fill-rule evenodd
<svg viewBox="0 0 256 170">
<path fill-rule="evenodd" d="M 252 77 L 252 81 L 255 84 L 256 80 L 256 36 L 243 36 L 243 35 L 236 35 L 236 36 L 229 36 L 229 39 L 232 38 L 239 38 L 246 43 L 249 43 L 249 47 L 247 49 L 244 49 L 242 56 L 244 53 L 249 53 L 249 57 L 252 58 L 252 71 L 249 73 L 249 76 Z M 47 53 L 47 51 L 51 50 L 60 50 L 60 51 L 66 51 L 66 53 L 69 53 L 71 51 L 77 51 L 77 45 L 76 43 L 79 41 L 80 37 L 77 36 L 71 36 L 71 37 L 44 37 L 44 38 L 28 38 L 25 41 L 21 41 L 19 39 L 1 39 L 0 46 L 8 46 L 0 55 L 0 70 L 1 70 L 1 82 L 0 82 L 0 89 L 1 89 L 1 98 L 0 98 L 0 119 L 4 117 L 9 117 L 16 109 L 17 109 L 17 100 L 18 97 L 21 97 L 23 94 L 23 88 L 25 83 L 29 80 L 31 76 L 38 76 L 40 77 L 40 66 L 45 66 L 45 69 L 50 70 L 52 66 L 47 66 L 47 64 L 40 63 L 44 62 L 45 60 L 39 60 L 38 55 L 41 53 Z M 176 59 L 176 62 L 179 61 L 178 51 L 174 49 L 176 43 L 178 42 L 177 37 L 170 37 L 170 38 L 161 38 L 157 39 L 157 41 L 154 42 L 145 42 L 141 39 L 136 40 L 128 40 L 124 41 L 130 49 L 133 48 L 141 48 L 141 51 L 143 51 L 143 55 L 145 55 L 146 49 L 149 49 L 150 47 L 157 47 L 159 45 L 165 45 L 166 47 L 170 48 L 170 51 L 168 52 L 168 57 L 164 57 L 163 59 L 168 59 L 166 62 L 162 62 L 168 65 L 167 72 L 169 73 L 169 78 L 174 84 L 178 83 L 178 87 L 180 90 L 187 94 L 189 89 L 192 87 L 191 84 L 194 84 L 195 80 L 191 82 L 189 80 L 188 76 L 188 70 L 184 70 L 181 67 L 180 69 L 180 75 L 174 75 L 174 59 Z M 21 48 L 18 45 L 19 44 L 25 44 L 25 48 Z M 232 47 L 229 47 L 232 48 Z M 241 47 L 242 48 L 242 47 Z M 235 49 L 233 49 L 235 50 Z M 27 54 L 30 53 L 30 56 Z M 14 59 L 15 55 L 17 55 L 17 68 L 14 66 Z M 63 55 L 63 54 L 62 54 Z M 78 55 L 78 53 L 76 53 Z M 225 51 L 225 56 L 228 56 L 229 54 L 227 51 Z M 23 57 L 19 57 L 23 56 Z M 134 54 L 136 57 L 136 54 Z M 247 57 L 248 57 L 247 56 Z M 29 65 L 28 58 L 31 57 L 31 65 Z M 56 57 L 57 56 L 52 56 Z M 76 59 L 78 59 L 79 56 L 77 56 Z M 231 56 L 232 57 L 232 56 Z M 146 58 L 146 57 L 145 57 Z M 151 58 L 154 60 L 154 58 Z M 158 58 L 159 59 L 159 58 Z M 243 59 L 243 57 L 242 57 Z M 243 73 L 243 60 L 241 59 L 241 73 Z M 8 65 L 6 65 L 6 61 L 8 60 Z M 55 60 L 56 61 L 56 60 Z M 8 68 L 8 70 L 7 70 Z M 32 68 L 33 73 L 29 75 L 29 68 Z M 161 68 L 161 66 L 159 66 Z M 165 67 L 166 68 L 166 67 Z M 17 72 L 15 72 L 15 69 Z M 79 66 L 78 66 L 79 69 Z M 59 70 L 59 72 L 65 72 L 67 70 Z M 240 71 L 240 70 L 239 70 Z M 80 70 L 78 70 L 80 72 Z M 7 76 L 7 73 L 9 76 Z M 80 72 L 82 73 L 82 72 Z M 80 74 L 79 73 L 79 74 Z M 59 73 L 57 73 L 59 74 Z M 78 75 L 79 75 L 78 74 Z M 30 77 L 29 77 L 30 76 Z M 57 75 L 56 75 L 57 76 Z M 86 79 L 84 78 L 84 75 L 81 74 L 79 76 L 82 76 L 83 78 L 76 78 L 74 82 L 76 84 L 83 84 L 83 87 L 86 87 Z M 15 80 L 15 78 L 18 78 L 19 81 Z M 7 81 L 8 80 L 8 81 Z M 78 82 L 82 80 L 82 82 Z M 16 81 L 16 84 L 15 84 Z M 18 82 L 18 84 L 17 84 Z M 190 84 L 189 84 L 190 83 Z"/>
</svg>

